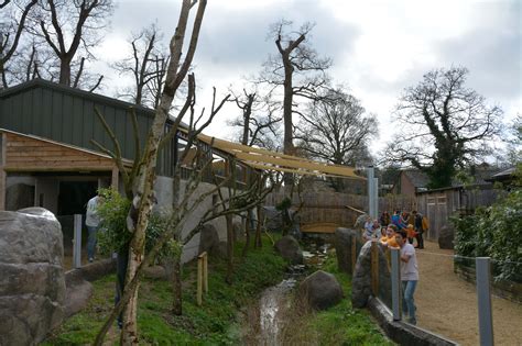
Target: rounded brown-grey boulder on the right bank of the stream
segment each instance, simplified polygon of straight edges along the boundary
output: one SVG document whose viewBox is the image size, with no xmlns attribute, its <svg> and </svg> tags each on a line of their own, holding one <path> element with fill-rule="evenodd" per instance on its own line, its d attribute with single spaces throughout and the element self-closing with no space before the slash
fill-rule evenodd
<svg viewBox="0 0 522 346">
<path fill-rule="evenodd" d="M 325 310 L 341 301 L 342 288 L 334 275 L 318 270 L 301 282 L 298 294 L 313 309 Z"/>
</svg>

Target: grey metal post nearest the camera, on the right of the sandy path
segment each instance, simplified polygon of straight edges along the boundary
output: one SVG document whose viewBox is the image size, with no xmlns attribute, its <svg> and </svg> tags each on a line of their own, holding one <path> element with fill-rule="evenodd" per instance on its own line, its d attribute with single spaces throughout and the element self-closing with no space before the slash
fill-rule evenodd
<svg viewBox="0 0 522 346">
<path fill-rule="evenodd" d="M 476 258 L 477 300 L 479 313 L 480 345 L 493 345 L 493 316 L 491 314 L 491 259 Z"/>
</svg>

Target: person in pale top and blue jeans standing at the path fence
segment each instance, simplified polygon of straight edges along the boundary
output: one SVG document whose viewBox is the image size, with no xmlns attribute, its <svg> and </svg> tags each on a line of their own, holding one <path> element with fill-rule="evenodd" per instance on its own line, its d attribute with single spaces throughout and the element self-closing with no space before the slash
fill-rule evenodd
<svg viewBox="0 0 522 346">
<path fill-rule="evenodd" d="M 416 306 L 413 294 L 418 282 L 418 267 L 415 248 L 406 242 L 406 232 L 403 230 L 396 232 L 395 239 L 401 248 L 402 311 L 407 313 L 409 323 L 416 324 Z"/>
</svg>

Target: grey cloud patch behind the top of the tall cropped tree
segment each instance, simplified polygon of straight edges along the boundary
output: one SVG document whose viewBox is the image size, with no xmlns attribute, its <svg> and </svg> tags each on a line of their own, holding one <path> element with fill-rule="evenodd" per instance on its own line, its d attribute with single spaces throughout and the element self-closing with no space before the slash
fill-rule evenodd
<svg viewBox="0 0 522 346">
<path fill-rule="evenodd" d="M 253 68 L 254 74 L 261 68 L 269 54 L 275 54 L 272 40 L 267 40 L 269 26 L 281 19 L 292 20 L 295 27 L 304 22 L 315 22 L 311 43 L 320 55 L 335 58 L 350 46 L 339 44 L 354 38 L 358 31 L 341 22 L 335 21 L 327 9 L 315 1 L 290 1 L 273 5 L 263 11 L 235 12 L 219 7 L 208 8 L 207 22 L 202 29 L 198 60 L 229 68 Z M 354 42 L 355 40 L 349 40 Z M 203 59 L 203 60 L 202 60 Z"/>
</svg>

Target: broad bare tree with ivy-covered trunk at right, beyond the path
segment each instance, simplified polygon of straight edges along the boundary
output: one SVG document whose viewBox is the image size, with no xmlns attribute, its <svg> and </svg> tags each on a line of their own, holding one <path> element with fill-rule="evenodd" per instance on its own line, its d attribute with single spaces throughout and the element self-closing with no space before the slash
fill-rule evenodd
<svg viewBox="0 0 522 346">
<path fill-rule="evenodd" d="M 385 157 L 427 174 L 429 188 L 450 186 L 458 168 L 488 153 L 500 130 L 503 111 L 466 88 L 467 75 L 464 67 L 432 70 L 396 107 L 401 132 Z"/>
</svg>

